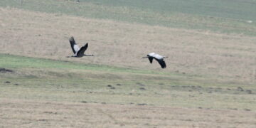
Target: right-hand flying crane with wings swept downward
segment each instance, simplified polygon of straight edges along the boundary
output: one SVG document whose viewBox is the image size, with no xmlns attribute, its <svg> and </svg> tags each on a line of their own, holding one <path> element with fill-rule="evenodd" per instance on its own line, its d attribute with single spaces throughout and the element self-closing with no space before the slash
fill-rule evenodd
<svg viewBox="0 0 256 128">
<path fill-rule="evenodd" d="M 157 62 L 159 62 L 159 64 L 161 65 L 161 68 L 166 68 L 166 63 L 164 62 L 164 58 L 168 58 L 168 57 L 161 56 L 156 53 L 149 53 L 148 55 L 146 55 L 146 57 L 143 57 L 143 58 L 149 58 L 150 63 L 152 63 L 153 59 L 155 59 Z"/>
</svg>

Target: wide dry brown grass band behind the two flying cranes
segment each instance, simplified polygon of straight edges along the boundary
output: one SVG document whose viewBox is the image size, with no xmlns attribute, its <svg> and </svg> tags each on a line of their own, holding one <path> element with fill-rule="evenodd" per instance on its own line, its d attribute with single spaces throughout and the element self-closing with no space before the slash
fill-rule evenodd
<svg viewBox="0 0 256 128">
<path fill-rule="evenodd" d="M 141 59 L 155 52 L 169 56 L 168 72 L 255 84 L 255 37 L 3 8 L 0 29 L 0 53 L 161 70 Z M 70 36 L 95 57 L 65 58 Z"/>
</svg>

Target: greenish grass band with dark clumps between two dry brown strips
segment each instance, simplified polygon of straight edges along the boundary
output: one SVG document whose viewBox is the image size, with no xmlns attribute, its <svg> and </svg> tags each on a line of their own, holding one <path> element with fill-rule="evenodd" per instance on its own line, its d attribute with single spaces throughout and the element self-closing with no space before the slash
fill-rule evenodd
<svg viewBox="0 0 256 128">
<path fill-rule="evenodd" d="M 189 108 L 256 110 L 255 87 L 186 75 L 0 54 L 0 97 Z"/>
</svg>

